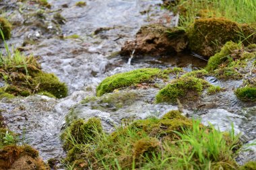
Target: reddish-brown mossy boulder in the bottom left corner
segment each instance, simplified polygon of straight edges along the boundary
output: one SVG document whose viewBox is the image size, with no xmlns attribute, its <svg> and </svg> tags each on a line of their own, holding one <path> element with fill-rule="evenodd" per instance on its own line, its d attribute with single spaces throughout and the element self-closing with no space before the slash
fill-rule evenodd
<svg viewBox="0 0 256 170">
<path fill-rule="evenodd" d="M 44 170 L 47 167 L 31 146 L 9 145 L 0 149 L 0 169 Z"/>
</svg>

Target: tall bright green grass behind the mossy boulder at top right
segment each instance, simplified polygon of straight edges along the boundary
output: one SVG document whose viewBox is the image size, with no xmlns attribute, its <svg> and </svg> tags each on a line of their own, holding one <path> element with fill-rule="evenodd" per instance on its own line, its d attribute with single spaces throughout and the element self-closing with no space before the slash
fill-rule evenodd
<svg viewBox="0 0 256 170">
<path fill-rule="evenodd" d="M 251 0 L 181 0 L 177 7 L 179 10 L 180 26 L 187 27 L 196 17 L 224 17 L 241 24 L 255 24 L 256 1 Z"/>
</svg>

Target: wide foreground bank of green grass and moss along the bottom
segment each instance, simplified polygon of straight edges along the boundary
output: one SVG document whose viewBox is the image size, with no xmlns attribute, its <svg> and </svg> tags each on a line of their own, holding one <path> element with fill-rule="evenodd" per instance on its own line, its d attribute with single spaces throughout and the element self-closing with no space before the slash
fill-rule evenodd
<svg viewBox="0 0 256 170">
<path fill-rule="evenodd" d="M 222 133 L 201 125 L 199 120 L 189 120 L 178 111 L 168 112 L 162 119 L 130 122 L 112 134 L 102 132 L 100 124 L 92 122 L 78 120 L 65 130 L 64 143 L 69 141 L 69 147 L 65 147 L 67 167 L 238 169 L 234 158 L 240 144 L 233 129 Z M 84 130 L 85 124 L 93 128 Z"/>
</svg>

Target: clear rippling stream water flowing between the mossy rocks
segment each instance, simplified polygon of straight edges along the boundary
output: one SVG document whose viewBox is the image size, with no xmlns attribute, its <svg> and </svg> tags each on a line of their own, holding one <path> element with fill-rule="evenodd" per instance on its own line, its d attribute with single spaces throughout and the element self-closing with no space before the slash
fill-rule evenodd
<svg viewBox="0 0 256 170">
<path fill-rule="evenodd" d="M 158 89 L 146 84 L 106 95 L 119 96 L 124 99 L 121 101 L 106 102 L 102 97 L 97 101 L 82 101 L 95 95 L 96 85 L 102 79 L 143 67 L 183 67 L 191 71 L 206 64 L 190 54 L 168 58 L 131 57 L 129 62 L 119 56 L 121 46 L 126 40 L 133 40 L 142 25 L 174 25 L 176 18 L 161 9 L 162 1 L 94 0 L 86 1 L 86 7 L 76 7 L 75 2 L 51 0 L 51 10 L 44 13 L 37 11 L 34 4 L 24 5 L 14 0 L 0 2 L 1 9 L 7 11 L 5 15 L 16 24 L 8 43 L 23 46 L 26 54 L 37 56 L 44 71 L 55 73 L 69 87 L 69 96 L 64 99 L 33 95 L 1 101 L 0 109 L 9 128 L 20 133 L 22 142 L 38 149 L 44 160 L 65 155 L 59 134 L 74 118 L 98 116 L 104 129 L 111 132 L 113 126 L 120 125 L 124 119 L 160 117 L 177 109 L 177 105 L 155 104 Z M 56 24 L 54 13 L 61 13 L 65 24 Z M 79 37 L 69 37 L 74 34 Z M 228 130 L 233 122 L 236 132 L 253 142 L 256 138 L 255 105 L 238 101 L 232 91 L 242 82 L 218 81 L 214 77 L 207 77 L 207 80 L 226 91 L 216 95 L 203 93 L 199 101 L 185 105 L 185 112 L 220 130 Z M 243 153 L 238 161 L 255 159 L 256 149 L 253 149 L 251 153 Z"/>
</svg>

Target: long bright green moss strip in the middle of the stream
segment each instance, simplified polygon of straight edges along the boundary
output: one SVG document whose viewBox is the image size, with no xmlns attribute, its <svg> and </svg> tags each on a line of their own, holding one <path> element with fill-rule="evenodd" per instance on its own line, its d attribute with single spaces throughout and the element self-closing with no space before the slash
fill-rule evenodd
<svg viewBox="0 0 256 170">
<path fill-rule="evenodd" d="M 104 79 L 104 81 L 102 81 L 96 88 L 96 93 L 98 96 L 100 96 L 104 93 L 110 93 L 121 87 L 129 87 L 137 83 L 149 83 L 157 77 L 164 77 L 164 75 L 166 74 L 162 73 L 160 69 L 150 68 L 137 69 L 127 73 L 119 73 Z"/>
</svg>

